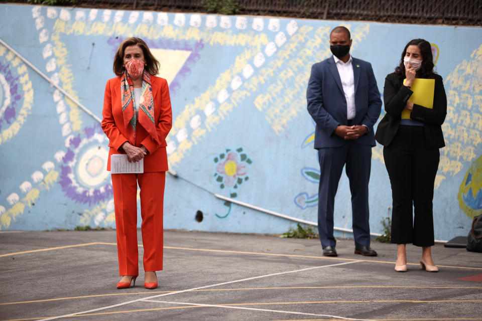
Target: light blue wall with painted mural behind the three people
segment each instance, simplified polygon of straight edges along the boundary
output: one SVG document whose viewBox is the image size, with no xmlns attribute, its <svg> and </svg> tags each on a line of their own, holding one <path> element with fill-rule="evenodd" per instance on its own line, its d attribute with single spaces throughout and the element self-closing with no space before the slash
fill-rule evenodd
<svg viewBox="0 0 482 321">
<path fill-rule="evenodd" d="M 0 4 L 0 38 L 98 117 L 119 43 L 148 43 L 173 106 L 167 148 L 178 178 L 167 176 L 168 229 L 283 233 L 295 225 L 213 193 L 317 221 L 319 167 L 305 94 L 311 65 L 331 55 L 329 32 L 338 25 L 351 30 L 351 53 L 372 63 L 381 92 L 409 40 L 433 44 L 448 96 L 435 238 L 466 235 L 482 213 L 481 28 Z M 114 227 L 99 123 L 2 45 L 0 83 L 0 229 Z M 351 228 L 350 208 L 343 175 L 335 226 Z M 391 190 L 380 145 L 370 210 L 372 232 L 381 232 Z"/>
</svg>

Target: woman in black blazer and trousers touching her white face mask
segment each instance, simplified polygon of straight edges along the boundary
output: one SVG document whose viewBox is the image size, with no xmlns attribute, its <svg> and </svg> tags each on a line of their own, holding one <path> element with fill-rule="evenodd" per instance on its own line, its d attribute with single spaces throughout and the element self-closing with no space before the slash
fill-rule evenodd
<svg viewBox="0 0 482 321">
<path fill-rule="evenodd" d="M 441 125 L 447 113 L 447 98 L 442 77 L 433 72 L 433 67 L 429 42 L 414 39 L 405 46 L 400 65 L 385 78 L 386 114 L 375 134 L 375 139 L 384 146 L 383 157 L 392 185 L 391 242 L 397 244 L 397 272 L 407 271 L 407 243 L 422 247 L 420 268 L 438 271 L 431 254 L 432 200 L 439 148 L 445 146 Z M 416 78 L 435 80 L 433 108 L 409 100 L 413 94 L 410 87 Z M 402 119 L 403 110 L 410 114 L 410 119 Z"/>
</svg>

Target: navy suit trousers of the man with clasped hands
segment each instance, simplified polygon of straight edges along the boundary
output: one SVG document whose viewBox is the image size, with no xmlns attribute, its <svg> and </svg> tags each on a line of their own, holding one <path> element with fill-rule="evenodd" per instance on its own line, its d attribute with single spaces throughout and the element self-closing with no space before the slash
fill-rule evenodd
<svg viewBox="0 0 482 321">
<path fill-rule="evenodd" d="M 350 183 L 352 228 L 355 246 L 370 245 L 368 183 L 372 146 L 346 140 L 341 147 L 319 148 L 318 233 L 323 248 L 336 244 L 333 237 L 333 210 L 338 182 L 346 165 Z"/>
</svg>

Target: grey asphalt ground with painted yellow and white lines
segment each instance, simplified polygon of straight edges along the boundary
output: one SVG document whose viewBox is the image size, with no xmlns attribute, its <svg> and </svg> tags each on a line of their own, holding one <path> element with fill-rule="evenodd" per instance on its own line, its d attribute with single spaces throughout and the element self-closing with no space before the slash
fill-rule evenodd
<svg viewBox="0 0 482 321">
<path fill-rule="evenodd" d="M 321 255 L 318 240 L 165 231 L 159 287 L 119 281 L 115 231 L 0 232 L 0 320 L 482 320 L 482 253 L 432 248 L 440 272 L 378 257 Z M 139 232 L 139 242 L 141 242 Z"/>
</svg>

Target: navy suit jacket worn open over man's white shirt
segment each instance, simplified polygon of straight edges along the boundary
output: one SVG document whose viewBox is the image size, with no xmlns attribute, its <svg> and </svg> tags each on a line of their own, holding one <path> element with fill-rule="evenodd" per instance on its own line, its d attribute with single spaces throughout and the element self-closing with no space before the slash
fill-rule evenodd
<svg viewBox="0 0 482 321">
<path fill-rule="evenodd" d="M 382 100 L 369 62 L 352 57 L 355 86 L 355 118 L 352 125 L 366 125 L 369 131 L 355 143 L 375 146 L 373 126 L 380 116 Z M 347 125 L 346 99 L 333 56 L 311 67 L 306 90 L 308 112 L 313 117 L 315 148 L 339 147 L 346 140 L 335 134 L 338 125 Z"/>
</svg>

